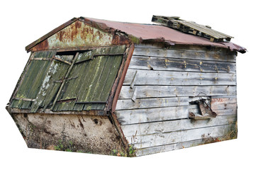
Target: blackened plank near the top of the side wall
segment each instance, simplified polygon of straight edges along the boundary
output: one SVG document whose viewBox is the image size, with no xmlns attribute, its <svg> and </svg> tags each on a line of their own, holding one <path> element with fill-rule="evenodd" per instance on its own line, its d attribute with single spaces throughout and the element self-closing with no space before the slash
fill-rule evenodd
<svg viewBox="0 0 256 170">
<path fill-rule="evenodd" d="M 181 72 L 226 72 L 235 73 L 235 63 L 207 60 L 187 60 L 167 57 L 133 55 L 130 69 L 153 69 Z"/>
</svg>

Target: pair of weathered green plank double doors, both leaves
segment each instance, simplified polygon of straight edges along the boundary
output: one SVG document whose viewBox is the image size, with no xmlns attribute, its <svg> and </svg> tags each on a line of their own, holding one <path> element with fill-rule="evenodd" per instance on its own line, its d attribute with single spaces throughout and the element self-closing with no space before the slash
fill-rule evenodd
<svg viewBox="0 0 256 170">
<path fill-rule="evenodd" d="M 38 108 L 103 110 L 125 50 L 121 45 L 84 52 L 35 52 L 11 108 L 30 109 L 31 113 Z"/>
</svg>

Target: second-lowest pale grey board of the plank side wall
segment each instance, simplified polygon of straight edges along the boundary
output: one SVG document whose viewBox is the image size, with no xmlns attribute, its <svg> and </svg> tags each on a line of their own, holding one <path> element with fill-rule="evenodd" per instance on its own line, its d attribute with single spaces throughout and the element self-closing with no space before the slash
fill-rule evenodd
<svg viewBox="0 0 256 170">
<path fill-rule="evenodd" d="M 141 135 L 136 137 L 126 137 L 129 143 L 136 148 L 155 147 L 169 145 L 177 142 L 190 140 L 200 140 L 206 137 L 219 137 L 228 135 L 234 129 L 235 124 L 212 126 L 191 130 L 180 130 L 174 132 L 157 133 L 153 135 Z"/>
</svg>

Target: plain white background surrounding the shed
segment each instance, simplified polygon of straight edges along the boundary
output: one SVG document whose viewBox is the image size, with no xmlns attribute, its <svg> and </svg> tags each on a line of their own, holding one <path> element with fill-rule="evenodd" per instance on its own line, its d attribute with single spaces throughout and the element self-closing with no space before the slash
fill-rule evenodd
<svg viewBox="0 0 256 170">
<path fill-rule="evenodd" d="M 253 1 L 1 1 L 0 169 L 252 169 L 255 168 L 255 5 Z M 5 110 L 29 54 L 25 47 L 73 17 L 150 23 L 180 16 L 211 26 L 246 47 L 238 54 L 238 140 L 138 158 L 28 149 Z"/>
</svg>

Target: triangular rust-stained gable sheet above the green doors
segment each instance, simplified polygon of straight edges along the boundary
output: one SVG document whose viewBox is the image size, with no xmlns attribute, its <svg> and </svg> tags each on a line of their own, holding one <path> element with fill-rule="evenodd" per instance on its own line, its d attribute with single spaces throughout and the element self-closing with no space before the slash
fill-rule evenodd
<svg viewBox="0 0 256 170">
<path fill-rule="evenodd" d="M 28 45 L 26 50 L 56 50 L 70 49 L 72 47 L 122 45 L 130 43 L 130 40 L 124 35 L 117 35 L 114 32 L 108 33 L 97 28 L 97 26 L 94 28 L 82 21 L 76 20 L 73 23 L 69 23 L 65 28 L 60 27 L 58 31 L 57 29 L 51 31 L 43 38 L 38 39 L 36 41 L 37 43 L 33 42 Z"/>
</svg>

